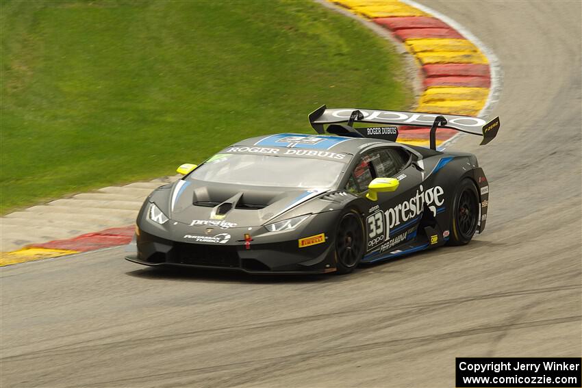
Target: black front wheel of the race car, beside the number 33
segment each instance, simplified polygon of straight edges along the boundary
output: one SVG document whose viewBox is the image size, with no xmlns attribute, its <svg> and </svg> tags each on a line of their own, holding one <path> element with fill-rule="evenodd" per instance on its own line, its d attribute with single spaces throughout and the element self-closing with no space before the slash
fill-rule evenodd
<svg viewBox="0 0 582 388">
<path fill-rule="evenodd" d="M 355 209 L 342 213 L 336 229 L 336 274 L 349 274 L 364 257 L 364 221 Z"/>
</svg>

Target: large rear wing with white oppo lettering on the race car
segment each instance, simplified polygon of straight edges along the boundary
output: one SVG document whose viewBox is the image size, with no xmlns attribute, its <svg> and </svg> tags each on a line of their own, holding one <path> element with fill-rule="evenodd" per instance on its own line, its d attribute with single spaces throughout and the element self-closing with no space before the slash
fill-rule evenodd
<svg viewBox="0 0 582 388">
<path fill-rule="evenodd" d="M 347 122 L 347 125 L 338 125 L 342 122 Z M 396 141 L 398 137 L 396 127 L 354 128 L 354 122 L 431 127 L 431 149 L 436 148 L 436 130 L 439 127 L 483 136 L 481 146 L 493 140 L 500 127 L 498 117 L 486 122 L 482 118 L 455 116 L 453 114 L 397 112 L 379 109 L 328 109 L 325 105 L 309 114 L 309 123 L 320 134 L 325 133 L 324 125 L 329 125 L 327 127 L 329 133 L 392 141 Z"/>
</svg>

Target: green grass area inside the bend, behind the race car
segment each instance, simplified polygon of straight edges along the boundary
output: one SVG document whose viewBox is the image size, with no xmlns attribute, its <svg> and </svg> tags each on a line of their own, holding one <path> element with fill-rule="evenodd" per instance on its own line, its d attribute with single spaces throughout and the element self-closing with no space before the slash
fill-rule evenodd
<svg viewBox="0 0 582 388">
<path fill-rule="evenodd" d="M 1 214 L 310 133 L 322 103 L 412 102 L 390 45 L 312 1 L 0 5 Z"/>
</svg>

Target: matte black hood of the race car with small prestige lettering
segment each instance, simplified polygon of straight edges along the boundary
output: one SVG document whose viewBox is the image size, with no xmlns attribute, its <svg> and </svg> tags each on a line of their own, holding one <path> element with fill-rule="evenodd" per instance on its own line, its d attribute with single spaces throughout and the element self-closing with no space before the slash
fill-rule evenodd
<svg viewBox="0 0 582 388">
<path fill-rule="evenodd" d="M 303 206 L 303 211 L 298 207 L 329 190 L 209 184 L 181 179 L 165 191 L 171 220 L 192 226 L 228 229 L 255 227 L 271 220 L 318 212 L 325 204 Z"/>
</svg>

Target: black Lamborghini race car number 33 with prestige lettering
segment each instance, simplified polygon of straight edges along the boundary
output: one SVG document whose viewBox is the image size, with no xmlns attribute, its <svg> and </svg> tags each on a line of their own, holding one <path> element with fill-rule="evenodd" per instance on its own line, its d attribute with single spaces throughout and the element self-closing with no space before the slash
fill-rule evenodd
<svg viewBox="0 0 582 388">
<path fill-rule="evenodd" d="M 136 226 L 147 266 L 346 274 L 483 232 L 489 186 L 475 155 L 438 151 L 440 127 L 483 135 L 499 118 L 327 109 L 316 135 L 279 133 L 227 146 L 154 190 Z M 355 127 L 355 123 L 377 127 Z M 399 125 L 431 127 L 430 148 L 400 144 Z M 327 127 L 326 127 L 327 126 Z M 327 134 L 326 134 L 327 131 Z"/>
</svg>

